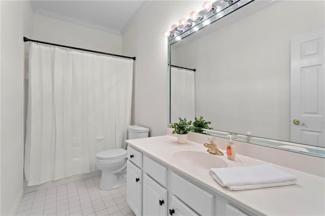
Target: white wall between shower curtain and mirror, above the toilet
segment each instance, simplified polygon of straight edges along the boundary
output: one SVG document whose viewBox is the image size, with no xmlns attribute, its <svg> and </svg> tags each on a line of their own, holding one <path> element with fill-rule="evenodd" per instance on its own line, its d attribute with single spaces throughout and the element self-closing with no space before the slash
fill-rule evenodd
<svg viewBox="0 0 325 216">
<path fill-rule="evenodd" d="M 203 1 L 152 1 L 132 18 L 122 34 L 123 54 L 137 57 L 136 124 L 150 136 L 166 134 L 169 123 L 168 42 L 163 32 Z"/>
</svg>

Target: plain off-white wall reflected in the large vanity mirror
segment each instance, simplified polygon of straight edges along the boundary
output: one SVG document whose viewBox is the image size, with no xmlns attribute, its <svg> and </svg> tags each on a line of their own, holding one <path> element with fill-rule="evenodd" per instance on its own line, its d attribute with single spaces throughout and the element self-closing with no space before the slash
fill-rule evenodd
<svg viewBox="0 0 325 216">
<path fill-rule="evenodd" d="M 214 129 L 290 140 L 290 40 L 324 27 L 324 2 L 294 5 L 270 5 L 175 50 L 177 65 L 197 69 L 196 115 Z"/>
</svg>

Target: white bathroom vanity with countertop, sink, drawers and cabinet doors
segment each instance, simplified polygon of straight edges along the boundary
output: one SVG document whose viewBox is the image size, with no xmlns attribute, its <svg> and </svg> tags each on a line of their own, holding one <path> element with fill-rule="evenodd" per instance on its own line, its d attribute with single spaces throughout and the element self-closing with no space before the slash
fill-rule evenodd
<svg viewBox="0 0 325 216">
<path fill-rule="evenodd" d="M 230 191 L 214 181 L 210 168 L 267 162 L 240 154 L 230 161 L 209 154 L 203 143 L 179 144 L 171 135 L 127 143 L 127 203 L 138 216 L 325 214 L 323 176 L 274 165 L 295 175 L 298 183 Z"/>
</svg>

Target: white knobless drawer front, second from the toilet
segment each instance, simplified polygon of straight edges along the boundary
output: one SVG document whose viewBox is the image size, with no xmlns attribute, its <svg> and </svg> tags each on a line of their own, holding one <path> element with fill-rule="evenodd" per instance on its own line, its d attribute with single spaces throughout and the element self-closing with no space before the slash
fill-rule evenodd
<svg viewBox="0 0 325 216">
<path fill-rule="evenodd" d="M 167 183 L 167 168 L 157 162 L 151 160 L 147 156 L 143 158 L 143 170 L 150 175 L 160 185 L 166 187 Z"/>
</svg>

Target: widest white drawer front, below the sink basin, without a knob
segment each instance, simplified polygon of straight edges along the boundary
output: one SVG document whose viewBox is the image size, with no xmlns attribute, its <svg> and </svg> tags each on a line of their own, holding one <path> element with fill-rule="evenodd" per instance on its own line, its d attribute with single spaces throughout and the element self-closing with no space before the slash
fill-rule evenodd
<svg viewBox="0 0 325 216">
<path fill-rule="evenodd" d="M 199 214 L 213 214 L 214 196 L 186 181 L 176 173 L 172 173 L 172 192 Z"/>
</svg>

